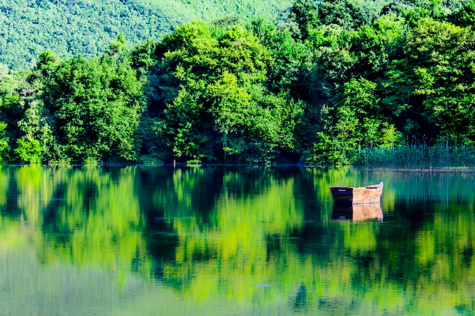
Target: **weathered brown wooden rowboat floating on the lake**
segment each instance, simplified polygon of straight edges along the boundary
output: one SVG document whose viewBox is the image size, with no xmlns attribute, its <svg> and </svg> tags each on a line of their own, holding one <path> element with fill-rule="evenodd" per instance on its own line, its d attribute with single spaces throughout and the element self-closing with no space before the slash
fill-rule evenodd
<svg viewBox="0 0 475 316">
<path fill-rule="evenodd" d="M 379 203 L 382 194 L 382 182 L 363 188 L 330 187 L 333 199 L 338 204 Z"/>
</svg>

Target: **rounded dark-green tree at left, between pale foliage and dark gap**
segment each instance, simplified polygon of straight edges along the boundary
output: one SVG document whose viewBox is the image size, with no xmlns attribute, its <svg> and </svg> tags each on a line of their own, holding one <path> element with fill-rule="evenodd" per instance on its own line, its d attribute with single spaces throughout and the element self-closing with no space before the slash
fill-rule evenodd
<svg viewBox="0 0 475 316">
<path fill-rule="evenodd" d="M 136 159 L 142 86 L 128 61 L 114 54 L 62 62 L 46 81 L 44 100 L 65 154 L 73 161 Z"/>
</svg>

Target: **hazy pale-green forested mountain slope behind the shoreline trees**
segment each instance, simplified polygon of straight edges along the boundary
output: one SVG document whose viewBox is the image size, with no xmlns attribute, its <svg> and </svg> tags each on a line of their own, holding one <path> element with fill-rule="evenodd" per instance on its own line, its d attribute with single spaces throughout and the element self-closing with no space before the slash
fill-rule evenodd
<svg viewBox="0 0 475 316">
<path fill-rule="evenodd" d="M 290 0 L 0 0 L 0 63 L 28 68 L 46 49 L 98 55 L 119 33 L 137 43 L 192 19 L 275 18 Z"/>
</svg>

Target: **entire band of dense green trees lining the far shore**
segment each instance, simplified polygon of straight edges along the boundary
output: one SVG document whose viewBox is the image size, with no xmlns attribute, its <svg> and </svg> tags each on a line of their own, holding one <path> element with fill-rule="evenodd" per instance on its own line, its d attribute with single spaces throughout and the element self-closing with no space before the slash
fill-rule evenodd
<svg viewBox="0 0 475 316">
<path fill-rule="evenodd" d="M 195 21 L 137 45 L 131 31 L 94 58 L 3 67 L 2 159 L 348 164 L 368 148 L 473 148 L 475 0 L 297 0 L 274 20 Z"/>
</svg>

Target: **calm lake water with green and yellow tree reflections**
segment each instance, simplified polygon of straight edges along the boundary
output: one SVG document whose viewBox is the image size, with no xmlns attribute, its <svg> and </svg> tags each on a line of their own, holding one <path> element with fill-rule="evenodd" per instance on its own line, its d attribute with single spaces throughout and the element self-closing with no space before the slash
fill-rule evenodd
<svg viewBox="0 0 475 316">
<path fill-rule="evenodd" d="M 474 247 L 471 173 L 0 168 L 1 316 L 474 315 Z"/>
</svg>

